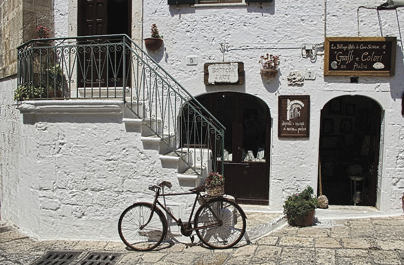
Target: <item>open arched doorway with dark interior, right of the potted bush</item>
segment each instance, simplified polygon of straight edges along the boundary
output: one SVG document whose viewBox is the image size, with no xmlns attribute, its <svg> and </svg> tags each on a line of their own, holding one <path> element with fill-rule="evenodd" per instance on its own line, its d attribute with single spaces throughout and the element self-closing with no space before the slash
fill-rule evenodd
<svg viewBox="0 0 404 265">
<path fill-rule="evenodd" d="M 329 204 L 376 206 L 381 108 L 366 96 L 339 96 L 321 110 L 319 187 Z"/>
</svg>

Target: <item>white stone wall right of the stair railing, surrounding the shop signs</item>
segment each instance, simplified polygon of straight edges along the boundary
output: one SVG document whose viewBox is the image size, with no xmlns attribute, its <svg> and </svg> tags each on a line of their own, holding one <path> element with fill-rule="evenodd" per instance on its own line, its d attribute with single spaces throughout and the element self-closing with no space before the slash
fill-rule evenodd
<svg viewBox="0 0 404 265">
<path fill-rule="evenodd" d="M 242 5 L 168 6 L 166 1 L 144 5 L 144 36 L 156 23 L 164 35 L 164 50 L 149 55 L 156 59 L 193 95 L 207 92 L 237 91 L 262 98 L 271 111 L 272 153 L 270 173 L 270 209 L 281 210 L 284 198 L 306 185 L 317 187 L 320 113 L 324 104 L 339 95 L 364 95 L 381 105 L 385 113 L 381 193 L 377 205 L 383 211 L 402 212 L 400 196 L 403 147 L 401 95 L 404 91 L 403 57 L 394 10 L 380 11 L 383 36 L 397 36 L 394 77 L 323 76 L 325 13 L 327 36 L 358 36 L 357 10 L 360 6 L 379 6 L 381 1 L 274 1 Z M 404 10 L 397 9 L 399 21 Z M 377 11 L 359 10 L 360 36 L 380 36 Z M 223 55 L 221 44 L 226 43 Z M 302 44 L 318 44 L 315 59 L 301 56 Z M 279 78 L 266 83 L 260 76 L 260 55 L 280 56 Z M 197 56 L 196 66 L 187 66 L 186 56 Z M 203 66 L 210 62 L 244 63 L 245 83 L 235 86 L 205 86 Z M 315 80 L 302 86 L 289 86 L 292 70 L 315 70 Z M 278 95 L 310 95 L 310 139 L 278 138 Z M 287 152 L 285 152 L 287 150 Z"/>
</svg>

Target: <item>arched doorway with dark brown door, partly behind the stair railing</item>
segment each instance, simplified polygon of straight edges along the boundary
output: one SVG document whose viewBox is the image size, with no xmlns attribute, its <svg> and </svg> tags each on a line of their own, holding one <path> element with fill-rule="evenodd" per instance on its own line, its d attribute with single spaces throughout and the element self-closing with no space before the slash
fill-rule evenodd
<svg viewBox="0 0 404 265">
<path fill-rule="evenodd" d="M 268 205 L 271 129 L 268 105 L 256 96 L 238 92 L 209 93 L 197 96 L 196 100 L 226 127 L 226 194 L 234 196 L 238 203 Z"/>
</svg>

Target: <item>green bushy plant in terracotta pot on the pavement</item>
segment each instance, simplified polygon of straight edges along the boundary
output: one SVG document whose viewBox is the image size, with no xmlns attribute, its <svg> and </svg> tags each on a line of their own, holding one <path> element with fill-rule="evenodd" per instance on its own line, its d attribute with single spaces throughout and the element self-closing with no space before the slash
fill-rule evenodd
<svg viewBox="0 0 404 265">
<path fill-rule="evenodd" d="M 313 194 L 313 188 L 307 186 L 300 193 L 287 196 L 283 204 L 283 213 L 286 214 L 287 222 L 290 225 L 313 225 L 315 208 L 317 207 L 317 199 Z"/>
</svg>

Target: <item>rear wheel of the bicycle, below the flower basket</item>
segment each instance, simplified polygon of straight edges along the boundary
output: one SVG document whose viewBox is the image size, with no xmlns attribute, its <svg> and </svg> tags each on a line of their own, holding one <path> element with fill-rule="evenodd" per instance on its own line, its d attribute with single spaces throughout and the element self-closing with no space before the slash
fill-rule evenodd
<svg viewBox="0 0 404 265">
<path fill-rule="evenodd" d="M 244 212 L 234 201 L 215 198 L 208 202 L 209 207 L 201 205 L 195 214 L 196 235 L 212 248 L 230 248 L 237 244 L 245 232 Z M 219 218 L 215 218 L 213 213 Z M 212 227 L 206 227 L 210 226 Z"/>
</svg>

